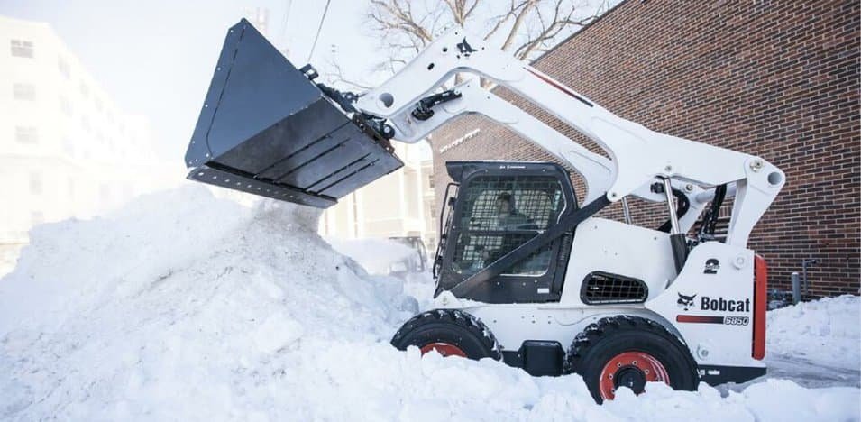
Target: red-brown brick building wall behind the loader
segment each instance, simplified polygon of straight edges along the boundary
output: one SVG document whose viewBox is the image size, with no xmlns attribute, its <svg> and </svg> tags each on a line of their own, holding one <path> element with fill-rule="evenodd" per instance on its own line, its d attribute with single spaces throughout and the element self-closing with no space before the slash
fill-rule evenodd
<svg viewBox="0 0 861 422">
<path fill-rule="evenodd" d="M 812 295 L 857 294 L 859 16 L 857 0 L 627 0 L 533 65 L 629 120 L 780 167 L 787 183 L 749 242 L 769 262 L 771 286 L 790 289 L 791 272 L 813 258 Z M 599 151 L 535 105 L 497 93 Z M 438 198 L 444 161 L 552 161 L 477 116 L 441 128 L 431 144 Z M 666 218 L 663 207 L 632 206 L 637 225 Z M 620 206 L 604 215 L 619 217 Z"/>
</svg>

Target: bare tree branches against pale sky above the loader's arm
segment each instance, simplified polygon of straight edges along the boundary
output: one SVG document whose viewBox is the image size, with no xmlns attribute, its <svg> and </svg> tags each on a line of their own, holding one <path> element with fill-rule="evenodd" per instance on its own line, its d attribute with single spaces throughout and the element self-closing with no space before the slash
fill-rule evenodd
<svg viewBox="0 0 861 422">
<path fill-rule="evenodd" d="M 604 13 L 608 1 L 371 0 L 367 20 L 382 51 L 375 70 L 394 73 L 454 25 L 497 43 L 520 60 L 532 60 Z M 336 63 L 329 67 L 335 81 L 363 87 L 345 78 Z"/>
</svg>

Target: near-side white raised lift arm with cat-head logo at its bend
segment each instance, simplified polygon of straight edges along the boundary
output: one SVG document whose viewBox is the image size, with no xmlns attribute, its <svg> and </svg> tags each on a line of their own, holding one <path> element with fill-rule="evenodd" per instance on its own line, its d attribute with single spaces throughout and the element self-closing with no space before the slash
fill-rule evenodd
<svg viewBox="0 0 861 422">
<path fill-rule="evenodd" d="M 404 131 L 404 112 L 457 72 L 490 78 L 597 142 L 609 154 L 613 167 L 605 193 L 609 202 L 634 194 L 655 178 L 703 189 L 735 184 L 727 243 L 744 247 L 753 226 L 783 187 L 783 171 L 762 158 L 657 133 L 627 121 L 460 28 L 445 33 L 387 82 L 364 93 L 356 108 L 367 115 L 394 119 Z M 400 135 L 396 130 L 394 138 Z M 403 137 L 414 139 L 406 131 Z M 527 138 L 551 153 L 556 151 L 554 155 L 562 155 L 558 138 Z M 562 158 L 574 165 L 570 158 Z"/>
</svg>

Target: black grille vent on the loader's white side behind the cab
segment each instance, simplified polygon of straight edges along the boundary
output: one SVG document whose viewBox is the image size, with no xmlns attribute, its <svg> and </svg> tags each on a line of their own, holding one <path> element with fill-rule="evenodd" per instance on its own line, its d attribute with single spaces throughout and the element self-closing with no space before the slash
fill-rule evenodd
<svg viewBox="0 0 861 422">
<path fill-rule="evenodd" d="M 643 280 L 594 271 L 583 280 L 580 298 L 587 305 L 643 303 L 649 289 Z"/>
</svg>

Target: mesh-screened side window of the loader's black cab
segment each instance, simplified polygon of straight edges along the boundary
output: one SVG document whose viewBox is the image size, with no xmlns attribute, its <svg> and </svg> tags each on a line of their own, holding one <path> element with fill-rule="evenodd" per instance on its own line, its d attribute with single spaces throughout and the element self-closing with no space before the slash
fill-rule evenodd
<svg viewBox="0 0 861 422">
<path fill-rule="evenodd" d="M 464 204 L 457 216 L 460 234 L 454 271 L 465 276 L 481 271 L 553 225 L 562 212 L 562 186 L 553 177 L 493 176 L 472 179 L 461 189 Z M 508 275 L 544 274 L 552 245 L 512 265 Z"/>
</svg>

